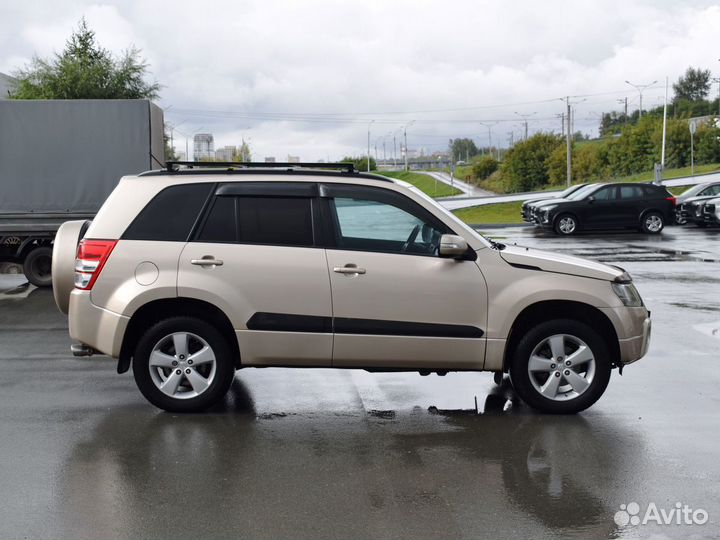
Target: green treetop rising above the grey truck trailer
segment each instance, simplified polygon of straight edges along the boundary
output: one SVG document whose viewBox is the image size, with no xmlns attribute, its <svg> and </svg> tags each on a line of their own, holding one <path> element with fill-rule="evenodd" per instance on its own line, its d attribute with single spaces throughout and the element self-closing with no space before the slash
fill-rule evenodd
<svg viewBox="0 0 720 540">
<path fill-rule="evenodd" d="M 15 74 L 13 99 L 154 99 L 160 85 L 145 81 L 148 65 L 130 47 L 115 58 L 100 47 L 85 18 L 62 53 L 33 58 Z"/>
</svg>

